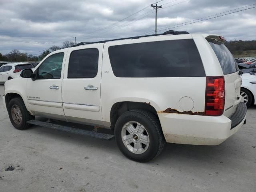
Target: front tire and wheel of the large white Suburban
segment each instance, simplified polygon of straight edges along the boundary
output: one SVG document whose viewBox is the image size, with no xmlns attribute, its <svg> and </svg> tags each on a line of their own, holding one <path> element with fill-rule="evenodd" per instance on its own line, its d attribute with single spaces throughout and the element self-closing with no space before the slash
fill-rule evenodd
<svg viewBox="0 0 256 192">
<path fill-rule="evenodd" d="M 18 130 L 28 128 L 30 124 L 26 122 L 35 118 L 28 113 L 23 100 L 18 97 L 10 100 L 8 104 L 8 114 L 12 125 Z"/>
</svg>

